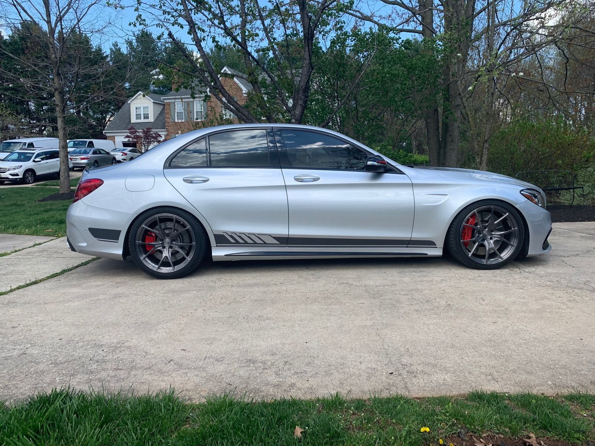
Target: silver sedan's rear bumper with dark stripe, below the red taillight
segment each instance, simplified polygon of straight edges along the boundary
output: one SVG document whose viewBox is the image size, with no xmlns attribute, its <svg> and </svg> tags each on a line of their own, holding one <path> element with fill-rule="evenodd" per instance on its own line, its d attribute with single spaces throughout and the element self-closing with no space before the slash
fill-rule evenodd
<svg viewBox="0 0 595 446">
<path fill-rule="evenodd" d="M 108 211 L 73 203 L 66 213 L 66 237 L 69 247 L 88 256 L 123 260 L 126 231 L 136 215 Z"/>
</svg>

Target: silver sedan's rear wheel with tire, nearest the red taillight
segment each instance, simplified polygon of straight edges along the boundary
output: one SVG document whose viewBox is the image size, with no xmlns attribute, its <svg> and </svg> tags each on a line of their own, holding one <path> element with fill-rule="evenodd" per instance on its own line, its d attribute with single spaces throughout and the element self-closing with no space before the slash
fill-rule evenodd
<svg viewBox="0 0 595 446">
<path fill-rule="evenodd" d="M 175 279 L 194 271 L 205 256 L 206 234 L 192 214 L 177 208 L 142 213 L 130 229 L 134 262 L 147 274 Z"/>
</svg>

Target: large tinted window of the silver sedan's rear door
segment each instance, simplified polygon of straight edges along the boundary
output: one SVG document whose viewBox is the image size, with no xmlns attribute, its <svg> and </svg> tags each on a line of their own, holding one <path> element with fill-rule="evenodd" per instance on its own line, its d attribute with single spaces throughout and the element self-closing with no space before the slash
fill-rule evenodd
<svg viewBox="0 0 595 446">
<path fill-rule="evenodd" d="M 226 131 L 209 136 L 211 167 L 270 167 L 267 131 Z"/>
</svg>

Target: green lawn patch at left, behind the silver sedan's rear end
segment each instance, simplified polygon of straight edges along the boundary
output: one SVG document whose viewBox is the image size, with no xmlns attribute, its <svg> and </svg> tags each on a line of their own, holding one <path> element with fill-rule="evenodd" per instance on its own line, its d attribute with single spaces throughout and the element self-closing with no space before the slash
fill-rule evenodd
<svg viewBox="0 0 595 446">
<path fill-rule="evenodd" d="M 0 189 L 0 233 L 48 235 L 66 233 L 66 209 L 71 200 L 39 203 L 57 193 L 53 187 L 3 187 Z"/>
</svg>

